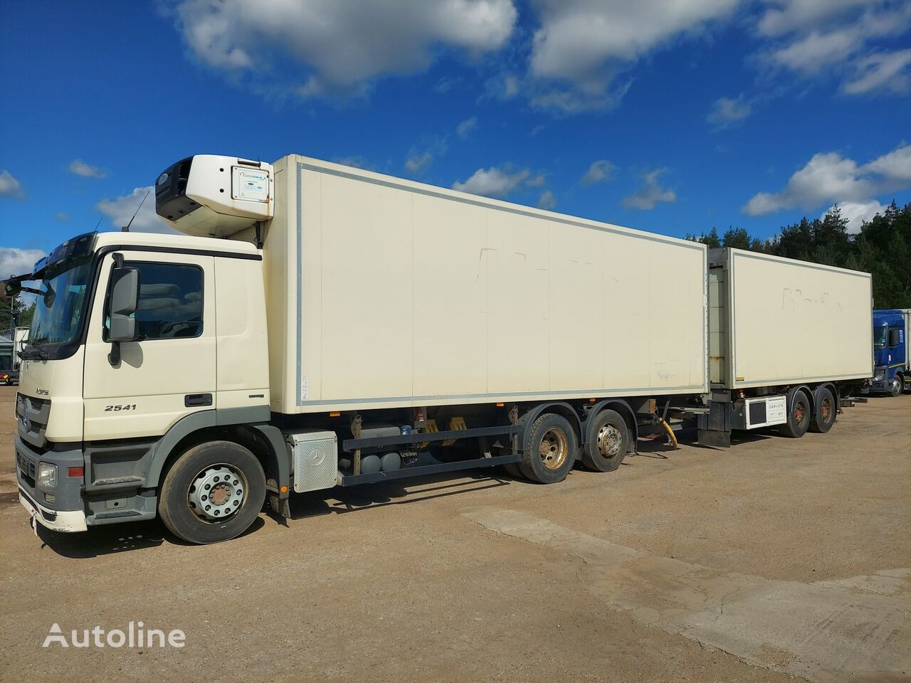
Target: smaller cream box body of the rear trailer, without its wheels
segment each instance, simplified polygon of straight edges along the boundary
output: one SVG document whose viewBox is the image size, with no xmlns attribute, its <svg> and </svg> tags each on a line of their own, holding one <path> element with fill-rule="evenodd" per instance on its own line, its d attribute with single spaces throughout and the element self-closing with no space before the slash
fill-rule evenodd
<svg viewBox="0 0 911 683">
<path fill-rule="evenodd" d="M 869 273 L 737 249 L 709 252 L 712 386 L 873 374 Z"/>
</svg>

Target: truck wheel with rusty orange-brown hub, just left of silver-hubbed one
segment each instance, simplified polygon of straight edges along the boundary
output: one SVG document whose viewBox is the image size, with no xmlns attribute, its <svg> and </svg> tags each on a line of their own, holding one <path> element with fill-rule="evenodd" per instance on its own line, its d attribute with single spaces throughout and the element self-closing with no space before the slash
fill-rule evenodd
<svg viewBox="0 0 911 683">
<path fill-rule="evenodd" d="M 519 469 L 539 484 L 556 484 L 567 478 L 576 463 L 578 439 L 569 421 L 557 413 L 544 413 L 528 429 Z"/>
</svg>

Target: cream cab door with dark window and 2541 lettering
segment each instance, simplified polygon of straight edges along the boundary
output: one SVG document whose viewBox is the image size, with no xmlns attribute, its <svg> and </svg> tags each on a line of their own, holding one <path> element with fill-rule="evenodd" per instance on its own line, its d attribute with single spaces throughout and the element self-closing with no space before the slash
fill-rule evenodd
<svg viewBox="0 0 911 683">
<path fill-rule="evenodd" d="M 120 342 L 108 359 L 107 288 L 114 267 L 105 256 L 86 341 L 85 439 L 160 436 L 189 413 L 215 410 L 214 259 L 183 253 L 123 250 L 139 272 L 137 340 Z"/>
</svg>

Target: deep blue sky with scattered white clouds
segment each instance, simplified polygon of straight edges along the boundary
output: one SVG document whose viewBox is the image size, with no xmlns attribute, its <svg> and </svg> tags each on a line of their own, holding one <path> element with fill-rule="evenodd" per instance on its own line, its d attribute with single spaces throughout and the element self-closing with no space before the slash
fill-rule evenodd
<svg viewBox="0 0 911 683">
<path fill-rule="evenodd" d="M 911 201 L 909 0 L 0 0 L 0 277 L 193 154 L 682 237 Z M 154 194 L 133 229 L 164 231 Z"/>
</svg>

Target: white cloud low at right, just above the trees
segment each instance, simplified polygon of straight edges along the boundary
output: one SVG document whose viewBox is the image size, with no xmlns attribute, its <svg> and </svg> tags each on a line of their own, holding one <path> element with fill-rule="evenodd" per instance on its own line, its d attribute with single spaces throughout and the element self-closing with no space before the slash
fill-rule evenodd
<svg viewBox="0 0 911 683">
<path fill-rule="evenodd" d="M 869 202 L 870 197 L 911 186 L 911 146 L 902 144 L 865 165 L 838 152 L 815 154 L 779 192 L 759 192 L 743 207 L 751 216 L 824 203 Z"/>
</svg>

